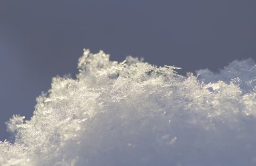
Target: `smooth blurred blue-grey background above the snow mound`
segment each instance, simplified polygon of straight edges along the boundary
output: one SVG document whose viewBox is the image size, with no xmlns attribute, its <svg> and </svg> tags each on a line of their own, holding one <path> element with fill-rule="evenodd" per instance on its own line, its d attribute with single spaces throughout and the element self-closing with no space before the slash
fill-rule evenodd
<svg viewBox="0 0 256 166">
<path fill-rule="evenodd" d="M 0 0 L 0 140 L 53 76 L 77 73 L 83 48 L 217 72 L 256 58 L 256 0 Z"/>
</svg>

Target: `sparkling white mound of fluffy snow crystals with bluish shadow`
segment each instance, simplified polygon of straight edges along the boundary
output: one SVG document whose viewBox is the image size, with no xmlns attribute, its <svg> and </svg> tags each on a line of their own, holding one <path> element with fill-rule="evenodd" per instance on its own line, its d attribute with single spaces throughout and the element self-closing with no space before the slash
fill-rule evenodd
<svg viewBox="0 0 256 166">
<path fill-rule="evenodd" d="M 256 166 L 256 65 L 178 75 L 88 49 L 31 120 L 13 116 L 1 166 Z"/>
</svg>

